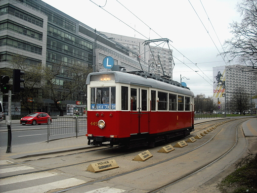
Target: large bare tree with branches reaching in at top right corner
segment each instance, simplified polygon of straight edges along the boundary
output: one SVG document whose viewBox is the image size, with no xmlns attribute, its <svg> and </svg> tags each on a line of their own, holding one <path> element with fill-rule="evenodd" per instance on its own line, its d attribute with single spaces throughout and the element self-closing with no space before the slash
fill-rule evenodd
<svg viewBox="0 0 257 193">
<path fill-rule="evenodd" d="M 257 70 L 257 0 L 243 0 L 237 10 L 243 16 L 242 22 L 230 24 L 234 37 L 225 41 L 227 51 L 221 54 L 239 59 L 251 71 Z"/>
</svg>

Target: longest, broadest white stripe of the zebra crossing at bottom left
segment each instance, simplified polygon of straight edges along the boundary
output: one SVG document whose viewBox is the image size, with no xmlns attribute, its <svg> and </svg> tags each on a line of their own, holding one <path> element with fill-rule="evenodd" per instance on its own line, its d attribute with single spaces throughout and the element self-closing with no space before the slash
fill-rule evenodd
<svg viewBox="0 0 257 193">
<path fill-rule="evenodd" d="M 65 189 L 68 187 L 78 186 L 78 185 L 81 185 L 84 183 L 86 183 L 84 180 L 79 180 L 76 178 L 69 178 L 66 180 L 60 180 L 60 181 L 51 182 L 48 184 L 39 185 L 39 186 L 28 187 L 28 188 L 24 188 L 24 189 L 13 190 L 13 191 L 7 191 L 4 193 L 45 193 L 50 190 Z"/>
</svg>

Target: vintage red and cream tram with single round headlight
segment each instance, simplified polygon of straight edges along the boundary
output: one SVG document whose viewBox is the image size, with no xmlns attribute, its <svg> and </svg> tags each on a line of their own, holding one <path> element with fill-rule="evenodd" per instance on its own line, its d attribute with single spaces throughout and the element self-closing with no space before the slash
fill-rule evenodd
<svg viewBox="0 0 257 193">
<path fill-rule="evenodd" d="M 180 83 L 149 73 L 90 73 L 88 145 L 149 145 L 194 131 L 194 94 Z"/>
</svg>

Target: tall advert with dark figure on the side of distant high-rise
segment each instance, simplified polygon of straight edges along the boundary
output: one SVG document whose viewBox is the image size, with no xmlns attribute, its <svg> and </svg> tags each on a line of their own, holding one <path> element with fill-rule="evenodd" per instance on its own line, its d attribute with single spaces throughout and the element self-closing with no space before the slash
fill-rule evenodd
<svg viewBox="0 0 257 193">
<path fill-rule="evenodd" d="M 225 66 L 219 66 L 213 68 L 213 77 L 214 77 L 214 98 L 225 97 Z"/>
</svg>

